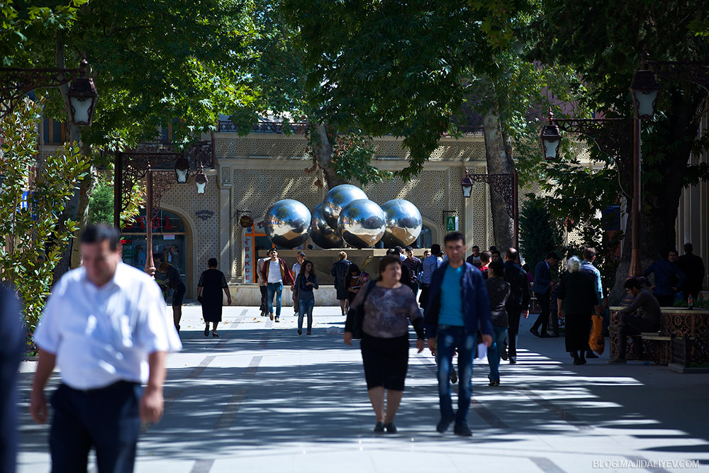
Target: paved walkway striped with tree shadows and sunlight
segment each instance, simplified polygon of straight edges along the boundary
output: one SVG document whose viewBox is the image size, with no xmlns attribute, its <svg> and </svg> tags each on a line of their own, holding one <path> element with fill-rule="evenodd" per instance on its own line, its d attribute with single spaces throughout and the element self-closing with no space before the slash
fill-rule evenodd
<svg viewBox="0 0 709 473">
<path fill-rule="evenodd" d="M 186 306 L 184 350 L 168 360 L 164 418 L 140 438 L 136 471 L 709 471 L 709 374 L 611 366 L 607 354 L 574 366 L 564 339 L 533 337 L 531 320 L 520 329 L 518 365 L 503 362 L 501 386 L 487 386 L 486 362 L 476 364 L 472 438 L 435 432 L 428 350 L 411 351 L 399 433 L 376 436 L 358 343 L 347 347 L 328 333 L 342 331 L 339 311 L 316 308 L 313 335 L 298 336 L 291 308 L 272 323 L 256 308 L 228 307 L 213 339 L 203 336 L 199 307 Z M 48 429 L 26 414 L 34 369 L 21 369 L 18 460 L 27 473 L 50 464 Z"/>
</svg>

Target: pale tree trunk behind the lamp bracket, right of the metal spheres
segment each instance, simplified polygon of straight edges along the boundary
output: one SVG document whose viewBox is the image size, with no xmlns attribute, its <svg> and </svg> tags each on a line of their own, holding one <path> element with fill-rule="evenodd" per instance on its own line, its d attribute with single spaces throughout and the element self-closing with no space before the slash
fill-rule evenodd
<svg viewBox="0 0 709 473">
<path fill-rule="evenodd" d="M 502 122 L 498 106 L 491 106 L 483 117 L 485 136 L 485 158 L 488 174 L 511 174 L 514 172 L 512 143 L 502 131 Z M 493 233 L 498 248 L 515 246 L 515 223 L 507 213 L 505 199 L 492 188 L 490 189 Z"/>
</svg>

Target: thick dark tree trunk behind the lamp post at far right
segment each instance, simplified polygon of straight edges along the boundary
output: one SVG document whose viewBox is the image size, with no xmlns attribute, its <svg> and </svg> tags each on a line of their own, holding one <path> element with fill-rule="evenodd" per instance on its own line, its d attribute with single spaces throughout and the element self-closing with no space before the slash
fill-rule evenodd
<svg viewBox="0 0 709 473">
<path fill-rule="evenodd" d="M 642 147 L 644 155 L 654 159 L 642 160 L 642 176 L 655 175 L 659 179 L 642 179 L 642 211 L 640 216 L 640 256 L 642 267 L 647 268 L 659 259 L 662 249 L 676 249 L 675 222 L 679 208 L 679 199 L 684 187 L 684 177 L 688 157 L 699 129 L 699 115 L 696 113 L 707 98 L 705 91 L 700 90 L 692 96 L 677 96 L 673 99 L 671 108 L 667 111 L 667 120 L 654 123 L 654 129 L 646 130 L 644 138 L 649 133 L 659 136 L 674 137 L 661 140 Z M 647 127 L 645 127 L 647 128 Z M 653 146 L 654 145 L 654 146 Z M 661 148 L 659 148 L 661 146 Z M 671 152 L 668 152 L 671 148 Z M 657 159 L 653 154 L 661 154 Z M 630 203 L 627 208 L 630 208 Z M 617 305 L 625 296 L 623 284 L 627 279 L 630 267 L 631 252 L 631 222 L 628 219 L 625 239 L 623 240 L 623 257 L 620 259 L 615 273 L 615 284 L 608 298 L 611 305 Z M 685 242 L 682 242 L 685 243 Z M 652 282 L 652 280 L 651 280 Z"/>
</svg>

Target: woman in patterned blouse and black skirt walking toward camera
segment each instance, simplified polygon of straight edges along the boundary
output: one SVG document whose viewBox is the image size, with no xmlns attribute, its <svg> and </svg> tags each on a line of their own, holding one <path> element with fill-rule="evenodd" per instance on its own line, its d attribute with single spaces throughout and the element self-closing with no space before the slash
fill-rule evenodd
<svg viewBox="0 0 709 473">
<path fill-rule="evenodd" d="M 376 413 L 374 432 L 396 433 L 394 416 L 403 395 L 408 369 L 408 323 L 416 330 L 416 348 L 423 351 L 423 317 L 416 297 L 401 279 L 401 260 L 385 256 L 379 262 L 379 279 L 367 283 L 352 305 L 364 304 L 362 362 L 369 401 Z M 370 286 L 372 285 L 372 286 Z M 352 313 L 352 311 L 350 311 Z M 352 317 L 345 323 L 345 343 L 352 345 Z M 384 390 L 386 389 L 386 411 Z"/>
</svg>

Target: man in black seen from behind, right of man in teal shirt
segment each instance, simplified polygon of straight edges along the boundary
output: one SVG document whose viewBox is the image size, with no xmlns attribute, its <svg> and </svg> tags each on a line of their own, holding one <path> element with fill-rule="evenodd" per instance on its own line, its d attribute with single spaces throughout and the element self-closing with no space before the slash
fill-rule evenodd
<svg viewBox="0 0 709 473">
<path fill-rule="evenodd" d="M 507 336 L 510 365 L 517 363 L 517 334 L 520 331 L 520 317 L 530 316 L 530 285 L 527 282 L 527 272 L 517 265 L 518 258 L 518 251 L 515 248 L 508 248 L 505 254 L 505 281 L 511 287 L 505 308 L 509 319 Z"/>
</svg>

